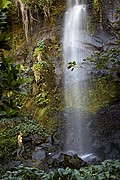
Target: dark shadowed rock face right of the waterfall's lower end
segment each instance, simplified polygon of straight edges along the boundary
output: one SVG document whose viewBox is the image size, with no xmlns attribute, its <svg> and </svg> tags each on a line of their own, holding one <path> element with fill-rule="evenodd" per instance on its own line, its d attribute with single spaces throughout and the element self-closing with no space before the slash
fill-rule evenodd
<svg viewBox="0 0 120 180">
<path fill-rule="evenodd" d="M 120 103 L 101 108 L 91 119 L 94 152 L 103 159 L 120 159 Z"/>
</svg>

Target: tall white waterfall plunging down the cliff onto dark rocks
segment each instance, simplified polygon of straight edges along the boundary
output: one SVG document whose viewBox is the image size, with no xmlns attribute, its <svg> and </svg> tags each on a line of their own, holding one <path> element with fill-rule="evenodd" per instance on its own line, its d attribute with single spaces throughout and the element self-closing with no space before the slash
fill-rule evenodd
<svg viewBox="0 0 120 180">
<path fill-rule="evenodd" d="M 83 59 L 92 53 L 84 44 L 90 37 L 86 32 L 86 6 L 70 5 L 65 15 L 63 35 L 63 59 L 64 59 L 64 100 L 65 100 L 65 152 L 75 152 L 79 156 L 87 157 L 92 153 L 89 142 L 88 116 L 88 92 L 90 80 L 89 67 L 82 64 Z M 71 71 L 67 68 L 68 62 L 75 61 L 81 68 Z"/>
</svg>

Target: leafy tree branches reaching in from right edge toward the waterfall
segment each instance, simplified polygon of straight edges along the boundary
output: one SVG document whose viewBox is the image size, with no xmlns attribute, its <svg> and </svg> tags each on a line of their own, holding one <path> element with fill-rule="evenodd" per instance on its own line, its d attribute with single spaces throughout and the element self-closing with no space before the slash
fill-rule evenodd
<svg viewBox="0 0 120 180">
<path fill-rule="evenodd" d="M 84 59 L 84 62 L 89 61 L 94 64 L 94 69 L 92 71 L 97 76 L 99 74 L 99 77 L 105 76 L 107 79 L 118 81 L 119 46 L 120 42 L 116 41 L 113 47 L 95 53 L 91 58 Z"/>
</svg>

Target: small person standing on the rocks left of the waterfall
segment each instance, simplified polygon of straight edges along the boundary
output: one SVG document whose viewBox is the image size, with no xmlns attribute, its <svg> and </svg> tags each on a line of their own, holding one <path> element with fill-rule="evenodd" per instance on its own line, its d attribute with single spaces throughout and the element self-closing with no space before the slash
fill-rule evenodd
<svg viewBox="0 0 120 180">
<path fill-rule="evenodd" d="M 17 150 L 17 157 L 20 157 L 24 151 L 23 139 L 22 139 L 22 132 L 20 131 L 18 134 L 18 150 Z"/>
</svg>

